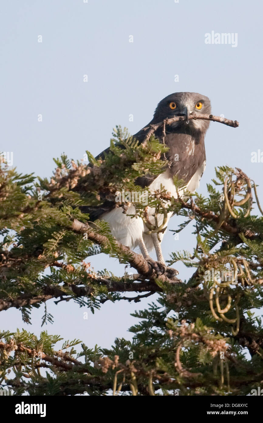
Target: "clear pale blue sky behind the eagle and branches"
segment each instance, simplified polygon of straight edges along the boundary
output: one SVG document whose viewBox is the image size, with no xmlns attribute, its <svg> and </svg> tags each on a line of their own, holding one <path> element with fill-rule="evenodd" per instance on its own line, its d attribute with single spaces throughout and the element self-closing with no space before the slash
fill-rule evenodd
<svg viewBox="0 0 263 423">
<path fill-rule="evenodd" d="M 207 168 L 199 192 L 214 177 L 214 166 L 244 170 L 260 187 L 263 163 L 252 163 L 261 148 L 262 3 L 256 0 L 13 0 L 3 2 L 0 17 L 1 151 L 14 152 L 19 172 L 51 176 L 52 157 L 64 151 L 81 159 L 109 145 L 112 127 L 138 132 L 151 119 L 157 103 L 176 91 L 195 91 L 211 99 L 215 115 L 236 119 L 233 129 L 212 122 L 206 135 Z M 205 34 L 237 33 L 238 44 L 205 44 Z M 43 42 L 38 43 L 38 36 Z M 133 43 L 129 36 L 133 35 Z M 83 75 L 88 82 L 83 82 Z M 179 82 L 174 82 L 174 75 Z M 38 122 L 38 114 L 43 122 Z M 133 122 L 129 115 L 133 114 Z M 176 228 L 178 219 L 169 222 Z M 187 227 L 175 241 L 171 232 L 163 253 L 191 249 Z M 105 255 L 90 258 L 96 269 L 121 275 L 124 266 Z M 180 277 L 191 272 L 178 265 Z M 150 301 L 154 297 L 150 297 Z M 66 339 L 110 346 L 115 337 L 130 338 L 136 322 L 130 312 L 149 302 L 115 305 L 83 319 L 73 302 L 55 306 L 53 325 L 45 327 Z M 33 324 L 22 323 L 14 308 L 0 314 L 0 327 L 40 332 L 43 306 L 33 310 Z"/>
</svg>

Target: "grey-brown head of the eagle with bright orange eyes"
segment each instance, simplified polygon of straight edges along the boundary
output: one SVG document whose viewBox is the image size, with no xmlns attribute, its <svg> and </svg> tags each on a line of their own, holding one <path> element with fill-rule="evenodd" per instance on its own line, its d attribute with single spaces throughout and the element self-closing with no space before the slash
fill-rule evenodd
<svg viewBox="0 0 263 423">
<path fill-rule="evenodd" d="M 211 104 L 208 97 L 198 93 L 173 93 L 165 97 L 158 104 L 153 121 L 161 122 L 165 118 L 173 118 L 174 116 L 186 116 L 187 120 L 191 113 L 195 114 L 211 114 Z M 175 122 L 172 127 L 189 125 L 191 129 L 199 129 L 206 132 L 209 121 L 189 120 L 187 123 Z"/>
</svg>

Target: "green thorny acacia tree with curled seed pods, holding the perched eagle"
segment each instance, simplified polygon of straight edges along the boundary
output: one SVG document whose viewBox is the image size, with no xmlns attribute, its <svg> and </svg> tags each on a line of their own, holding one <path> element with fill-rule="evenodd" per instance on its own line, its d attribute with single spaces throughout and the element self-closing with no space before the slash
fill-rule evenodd
<svg viewBox="0 0 263 423">
<path fill-rule="evenodd" d="M 214 116 L 201 118 L 238 126 Z M 164 135 L 169 123 L 162 123 Z M 223 166 L 215 170 L 206 197 L 171 198 L 165 190 L 148 190 L 148 206 L 163 213 L 163 225 L 150 229 L 165 230 L 166 211 L 184 217 L 174 232 L 195 222 L 196 244 L 171 252 L 168 267 L 160 271 L 157 263 L 114 239 L 106 222 L 90 222 L 80 211 L 80 206 L 114 199 L 116 191 L 139 191 L 136 178 L 163 172 L 167 147 L 154 138 L 155 129 L 146 128 L 139 145 L 117 127 L 103 159 L 87 152 L 90 165 L 85 165 L 62 155 L 54 160 L 50 180 L 1 164 L 0 311 L 19 308 L 29 322 L 31 310 L 44 303 L 44 324 L 52 322 L 52 299 L 94 311 L 108 299 L 139 302 L 158 294 L 147 309 L 133 313 L 138 318 L 130 328 L 133 341 L 117 338 L 111 349 L 62 342 L 46 331 L 38 338 L 1 327 L 2 388 L 15 395 L 231 396 L 246 395 L 263 380 L 262 321 L 251 311 L 263 305 L 263 217 L 252 214 L 253 198 L 263 213 L 254 181 L 238 168 Z M 179 190 L 182 181 L 174 183 Z M 118 205 L 125 212 L 125 204 Z M 135 206 L 147 223 L 145 205 Z M 89 257 L 100 252 L 134 273 L 95 272 Z M 178 261 L 193 268 L 188 280 L 171 267 Z"/>
</svg>

